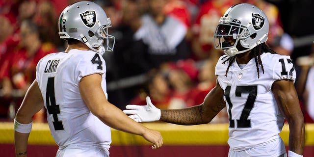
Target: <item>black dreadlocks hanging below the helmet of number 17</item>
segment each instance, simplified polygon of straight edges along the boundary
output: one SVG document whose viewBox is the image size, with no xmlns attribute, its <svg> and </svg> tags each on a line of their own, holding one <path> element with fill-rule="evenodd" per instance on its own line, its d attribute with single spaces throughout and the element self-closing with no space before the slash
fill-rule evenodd
<svg viewBox="0 0 314 157">
<path fill-rule="evenodd" d="M 251 56 L 254 57 L 254 60 L 255 60 L 258 78 L 260 78 L 260 68 L 259 68 L 259 65 L 261 65 L 262 72 L 264 74 L 264 66 L 262 64 L 262 59 L 261 59 L 261 54 L 262 53 L 277 54 L 277 52 L 275 52 L 272 49 L 270 49 L 265 43 L 262 43 L 262 44 L 256 46 L 255 48 L 253 48 L 251 50 Z M 224 59 L 226 57 L 228 57 L 228 56 L 225 56 L 222 59 Z M 228 67 L 227 67 L 227 70 L 226 70 L 225 77 L 227 77 L 229 68 L 231 67 L 232 63 L 235 62 L 235 56 L 231 56 L 231 57 L 227 58 L 224 62 L 222 62 L 222 64 L 225 64 L 227 61 L 228 61 Z"/>
</svg>

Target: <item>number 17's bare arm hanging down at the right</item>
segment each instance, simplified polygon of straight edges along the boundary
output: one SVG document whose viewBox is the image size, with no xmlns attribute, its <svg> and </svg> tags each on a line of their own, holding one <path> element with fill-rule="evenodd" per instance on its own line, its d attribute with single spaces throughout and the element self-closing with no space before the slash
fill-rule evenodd
<svg viewBox="0 0 314 157">
<path fill-rule="evenodd" d="M 272 85 L 276 102 L 289 124 L 289 150 L 299 155 L 304 148 L 304 120 L 298 96 L 291 80 L 278 80 Z"/>
</svg>

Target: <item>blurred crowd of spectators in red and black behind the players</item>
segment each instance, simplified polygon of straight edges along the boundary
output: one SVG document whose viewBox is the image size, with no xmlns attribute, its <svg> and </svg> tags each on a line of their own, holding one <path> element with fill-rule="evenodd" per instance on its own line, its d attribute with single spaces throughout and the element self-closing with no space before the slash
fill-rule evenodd
<svg viewBox="0 0 314 157">
<path fill-rule="evenodd" d="M 57 34 L 58 16 L 76 1 L 0 1 L 1 119 L 10 121 L 14 117 L 28 86 L 35 79 L 39 59 L 63 51 L 67 46 Z M 119 108 L 124 109 L 128 104 L 146 105 L 146 96 L 150 96 L 160 109 L 201 104 L 215 86 L 215 64 L 224 54 L 212 45 L 219 18 L 230 6 L 247 2 L 261 8 L 268 17 L 267 45 L 299 61 L 295 84 L 306 121 L 313 122 L 314 68 L 310 55 L 313 55 L 314 47 L 311 49 L 310 44 L 296 51 L 293 38 L 302 36 L 302 30 L 306 31 L 307 27 L 293 34 L 294 28 L 300 26 L 290 26 L 287 17 L 282 18 L 285 10 L 290 9 L 287 3 L 292 6 L 293 0 L 285 5 L 281 5 L 284 0 L 274 0 L 276 3 L 271 0 L 92 1 L 103 6 L 112 22 L 109 32 L 116 37 L 114 52 L 104 54 L 107 82 L 144 76 L 143 80 L 136 81 L 140 83 L 128 87 L 108 88 L 109 101 Z M 302 4 L 299 2 L 300 7 Z M 35 115 L 34 121 L 45 121 L 44 109 Z M 213 122 L 228 122 L 226 109 Z"/>
</svg>

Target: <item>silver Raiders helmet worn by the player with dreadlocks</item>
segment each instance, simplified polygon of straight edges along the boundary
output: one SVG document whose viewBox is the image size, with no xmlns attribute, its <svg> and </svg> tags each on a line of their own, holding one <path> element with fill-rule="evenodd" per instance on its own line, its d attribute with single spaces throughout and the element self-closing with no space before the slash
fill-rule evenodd
<svg viewBox="0 0 314 157">
<path fill-rule="evenodd" d="M 247 52 L 268 39 L 269 23 L 260 8 L 248 3 L 240 3 L 230 7 L 220 18 L 214 34 L 216 49 L 223 49 L 228 56 Z M 227 42 L 227 38 L 235 39 L 235 44 Z M 236 46 L 243 47 L 239 51 Z"/>
</svg>

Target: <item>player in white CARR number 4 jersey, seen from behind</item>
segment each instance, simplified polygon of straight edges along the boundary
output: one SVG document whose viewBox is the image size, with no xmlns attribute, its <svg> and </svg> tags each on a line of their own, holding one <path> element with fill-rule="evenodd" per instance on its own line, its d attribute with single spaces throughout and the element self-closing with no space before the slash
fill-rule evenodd
<svg viewBox="0 0 314 157">
<path fill-rule="evenodd" d="M 108 34 L 111 22 L 102 7 L 79 1 L 64 9 L 58 22 L 60 38 L 69 46 L 37 64 L 36 79 L 14 120 L 16 156 L 27 156 L 31 118 L 43 106 L 59 146 L 56 157 L 108 157 L 109 127 L 141 135 L 154 143 L 153 149 L 161 147 L 158 131 L 136 123 L 106 99 L 102 53 L 113 50 L 114 37 Z"/>
</svg>

